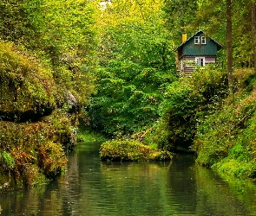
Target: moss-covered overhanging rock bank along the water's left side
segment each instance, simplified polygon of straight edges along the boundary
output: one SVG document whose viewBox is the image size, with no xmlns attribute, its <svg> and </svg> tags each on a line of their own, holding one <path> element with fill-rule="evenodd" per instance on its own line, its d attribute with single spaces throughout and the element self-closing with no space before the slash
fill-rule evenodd
<svg viewBox="0 0 256 216">
<path fill-rule="evenodd" d="M 0 67 L 4 192 L 49 182 L 66 169 L 65 152 L 75 148 L 81 104 L 48 66 L 10 42 L 0 41 Z"/>
</svg>

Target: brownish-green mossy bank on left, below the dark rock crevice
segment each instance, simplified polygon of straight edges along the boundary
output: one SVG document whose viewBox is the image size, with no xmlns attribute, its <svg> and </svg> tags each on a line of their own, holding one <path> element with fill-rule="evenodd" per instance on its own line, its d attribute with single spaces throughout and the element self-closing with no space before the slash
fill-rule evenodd
<svg viewBox="0 0 256 216">
<path fill-rule="evenodd" d="M 76 143 L 72 118 L 62 110 L 36 123 L 0 121 L 0 137 L 0 170 L 13 179 L 5 184 L 10 188 L 32 187 L 64 171 L 65 150 Z"/>
</svg>

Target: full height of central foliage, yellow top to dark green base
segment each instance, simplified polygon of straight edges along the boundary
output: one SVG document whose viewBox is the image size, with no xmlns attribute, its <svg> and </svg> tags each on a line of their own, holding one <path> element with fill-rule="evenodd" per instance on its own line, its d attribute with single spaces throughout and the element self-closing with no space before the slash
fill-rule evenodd
<svg viewBox="0 0 256 216">
<path fill-rule="evenodd" d="M 97 93 L 89 116 L 108 137 L 129 136 L 159 118 L 175 73 L 174 48 L 161 1 L 115 1 L 102 11 Z"/>
</svg>

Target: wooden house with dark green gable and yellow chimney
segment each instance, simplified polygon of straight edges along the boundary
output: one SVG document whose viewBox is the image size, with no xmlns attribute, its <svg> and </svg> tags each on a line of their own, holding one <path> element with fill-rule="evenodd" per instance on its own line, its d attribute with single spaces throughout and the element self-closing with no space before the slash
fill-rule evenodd
<svg viewBox="0 0 256 216">
<path fill-rule="evenodd" d="M 177 48 L 179 57 L 179 72 L 189 74 L 196 67 L 206 67 L 208 64 L 215 64 L 217 51 L 221 49 L 220 43 L 213 38 L 207 37 L 204 31 L 200 30 L 187 39 L 182 35 L 182 43 Z"/>
</svg>

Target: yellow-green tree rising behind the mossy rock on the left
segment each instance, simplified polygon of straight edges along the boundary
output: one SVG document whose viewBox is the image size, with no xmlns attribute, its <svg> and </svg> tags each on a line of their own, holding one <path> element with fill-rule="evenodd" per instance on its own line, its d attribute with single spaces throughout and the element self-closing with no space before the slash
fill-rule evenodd
<svg viewBox="0 0 256 216">
<path fill-rule="evenodd" d="M 32 0 L 22 7 L 35 35 L 27 36 L 24 45 L 49 64 L 59 86 L 60 105 L 70 93 L 80 105 L 88 104 L 97 68 L 98 5 L 86 0 Z"/>
</svg>

